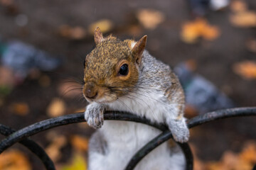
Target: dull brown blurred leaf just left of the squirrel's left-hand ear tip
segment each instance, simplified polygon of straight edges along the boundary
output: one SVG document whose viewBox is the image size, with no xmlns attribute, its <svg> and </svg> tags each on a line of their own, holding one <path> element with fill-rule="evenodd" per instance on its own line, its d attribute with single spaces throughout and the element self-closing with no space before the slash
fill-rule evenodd
<svg viewBox="0 0 256 170">
<path fill-rule="evenodd" d="M 80 26 L 71 27 L 68 25 L 60 26 L 59 33 L 64 38 L 70 38 L 73 40 L 81 40 L 86 36 L 85 28 Z"/>
</svg>

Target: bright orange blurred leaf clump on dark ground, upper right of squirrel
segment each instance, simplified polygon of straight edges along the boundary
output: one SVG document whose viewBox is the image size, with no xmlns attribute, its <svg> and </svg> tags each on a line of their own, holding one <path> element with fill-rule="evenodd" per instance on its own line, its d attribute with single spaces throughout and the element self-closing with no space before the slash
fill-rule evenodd
<svg viewBox="0 0 256 170">
<path fill-rule="evenodd" d="M 196 42 L 198 38 L 215 40 L 219 35 L 220 30 L 216 26 L 210 26 L 204 18 L 184 23 L 181 30 L 181 39 L 187 43 Z"/>
</svg>

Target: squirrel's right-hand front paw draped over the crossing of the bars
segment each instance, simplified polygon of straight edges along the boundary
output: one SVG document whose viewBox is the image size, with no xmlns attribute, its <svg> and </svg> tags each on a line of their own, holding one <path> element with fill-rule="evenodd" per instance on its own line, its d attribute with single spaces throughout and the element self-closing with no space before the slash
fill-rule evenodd
<svg viewBox="0 0 256 170">
<path fill-rule="evenodd" d="M 176 142 L 188 142 L 189 130 L 186 125 L 185 119 L 182 120 L 170 120 L 168 123 L 169 130 Z"/>
</svg>

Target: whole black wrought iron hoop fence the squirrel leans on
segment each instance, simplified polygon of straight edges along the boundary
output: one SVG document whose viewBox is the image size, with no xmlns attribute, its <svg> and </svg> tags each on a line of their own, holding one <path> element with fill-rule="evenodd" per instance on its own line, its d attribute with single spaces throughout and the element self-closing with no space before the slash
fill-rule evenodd
<svg viewBox="0 0 256 170">
<path fill-rule="evenodd" d="M 247 108 L 229 108 L 220 111 L 213 111 L 210 113 L 206 113 L 203 115 L 198 115 L 195 118 L 187 121 L 188 128 L 193 128 L 198 125 L 202 125 L 204 123 L 208 123 L 213 120 L 223 119 L 223 118 L 230 118 L 236 116 L 250 116 L 256 115 L 256 107 L 247 107 Z M 155 149 L 166 140 L 172 138 L 171 132 L 164 124 L 156 124 L 150 123 L 149 120 L 146 118 L 139 118 L 137 115 L 132 115 L 126 112 L 111 112 L 107 111 L 104 114 L 105 120 L 124 120 L 124 121 L 133 121 L 137 123 L 144 123 L 146 125 L 153 126 L 154 128 L 158 128 L 162 131 L 160 135 L 155 137 L 153 140 L 148 142 L 142 149 L 134 154 L 134 157 L 129 161 L 125 170 L 134 169 L 134 167 L 138 164 L 143 157 L 146 156 L 151 150 Z M 0 124 L 0 133 L 1 135 L 7 136 L 4 140 L 0 142 L 0 154 L 4 152 L 5 149 L 11 147 L 16 142 L 19 142 L 21 145 L 27 147 L 31 150 L 36 156 L 41 159 L 44 166 L 48 170 L 55 170 L 55 166 L 53 161 L 48 157 L 48 154 L 44 151 L 42 147 L 33 142 L 33 140 L 28 140 L 27 137 L 37 134 L 38 132 L 42 132 L 44 130 L 48 130 L 51 128 L 58 127 L 60 125 L 68 125 L 71 123 L 81 123 L 85 122 L 84 120 L 84 113 L 74 113 L 70 115 L 63 115 L 58 118 L 50 118 L 48 120 L 43 120 L 38 123 L 34 123 L 33 125 L 29 125 L 21 130 L 13 130 L 6 125 Z M 177 143 L 186 157 L 186 170 L 193 169 L 193 154 L 188 143 Z M 256 155 L 255 155 L 256 157 Z M 252 170 L 256 170 L 256 164 L 252 168 Z"/>
</svg>

